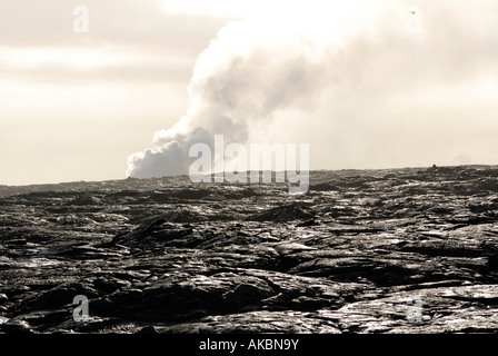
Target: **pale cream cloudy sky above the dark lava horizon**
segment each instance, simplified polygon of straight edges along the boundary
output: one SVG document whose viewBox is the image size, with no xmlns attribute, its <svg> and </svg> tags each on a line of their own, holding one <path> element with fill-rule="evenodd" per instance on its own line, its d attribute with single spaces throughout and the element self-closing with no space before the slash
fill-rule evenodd
<svg viewBox="0 0 498 356">
<path fill-rule="evenodd" d="M 497 113 L 495 0 L 0 2 L 0 185 L 126 178 L 186 116 L 311 169 L 498 164 Z"/>
</svg>

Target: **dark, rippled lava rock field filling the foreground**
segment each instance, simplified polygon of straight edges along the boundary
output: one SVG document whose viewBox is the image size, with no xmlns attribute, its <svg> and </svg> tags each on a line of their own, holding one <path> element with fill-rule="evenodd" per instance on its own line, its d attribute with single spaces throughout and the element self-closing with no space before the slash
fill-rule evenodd
<svg viewBox="0 0 498 356">
<path fill-rule="evenodd" d="M 0 333 L 495 333 L 497 212 L 477 166 L 0 186 Z"/>
</svg>

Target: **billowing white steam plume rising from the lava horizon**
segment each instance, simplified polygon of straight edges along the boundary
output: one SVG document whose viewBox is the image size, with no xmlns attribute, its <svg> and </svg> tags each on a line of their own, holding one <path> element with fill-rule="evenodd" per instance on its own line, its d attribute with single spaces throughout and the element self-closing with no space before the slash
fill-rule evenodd
<svg viewBox="0 0 498 356">
<path fill-rule="evenodd" d="M 255 127 L 289 110 L 342 122 L 338 129 L 353 130 L 358 120 L 385 123 L 379 116 L 386 107 L 424 101 L 424 88 L 472 82 L 482 61 L 467 51 L 487 46 L 479 42 L 484 27 L 474 21 L 497 23 L 485 13 L 497 13 L 492 1 L 478 9 L 459 3 L 458 13 L 454 1 L 301 3 L 260 9 L 222 28 L 193 68 L 187 115 L 156 132 L 152 148 L 129 157 L 128 176 L 188 174 L 193 144 L 212 145 L 216 134 L 226 144 L 247 142 Z"/>
</svg>

